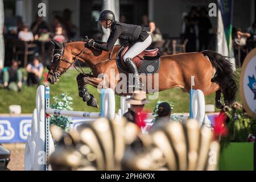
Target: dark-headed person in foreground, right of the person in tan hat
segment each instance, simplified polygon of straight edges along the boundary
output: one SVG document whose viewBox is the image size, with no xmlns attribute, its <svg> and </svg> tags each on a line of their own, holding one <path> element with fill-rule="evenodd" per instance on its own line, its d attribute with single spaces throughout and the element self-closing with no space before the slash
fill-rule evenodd
<svg viewBox="0 0 256 182">
<path fill-rule="evenodd" d="M 168 102 L 162 102 L 158 105 L 158 118 L 154 122 L 154 124 L 150 127 L 150 131 L 154 130 L 154 128 L 158 128 L 160 126 L 165 125 L 165 123 L 170 122 L 171 119 L 171 106 Z"/>
</svg>

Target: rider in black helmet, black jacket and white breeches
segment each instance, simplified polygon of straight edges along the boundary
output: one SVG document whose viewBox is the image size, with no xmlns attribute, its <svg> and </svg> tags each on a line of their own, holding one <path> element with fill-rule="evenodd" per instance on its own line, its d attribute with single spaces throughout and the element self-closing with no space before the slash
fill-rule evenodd
<svg viewBox="0 0 256 182">
<path fill-rule="evenodd" d="M 134 74 L 135 90 L 141 88 L 138 69 L 132 59 L 150 46 L 152 42 L 152 38 L 149 33 L 150 28 L 141 27 L 134 24 L 120 23 L 115 20 L 115 15 L 110 10 L 101 11 L 99 18 L 96 21 L 98 20 L 100 20 L 100 23 L 104 28 L 110 29 L 108 41 L 102 44 L 92 40 L 88 42 L 86 46 L 93 46 L 97 49 L 110 51 L 118 38 L 130 42 L 132 46 L 125 53 L 125 55 L 123 55 L 123 60 L 125 61 L 129 71 Z"/>
</svg>

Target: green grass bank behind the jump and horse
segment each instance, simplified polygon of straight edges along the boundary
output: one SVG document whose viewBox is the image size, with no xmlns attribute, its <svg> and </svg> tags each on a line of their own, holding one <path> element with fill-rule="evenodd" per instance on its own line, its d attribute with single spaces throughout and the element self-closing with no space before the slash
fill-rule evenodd
<svg viewBox="0 0 256 182">
<path fill-rule="evenodd" d="M 84 69 L 85 72 L 89 72 L 89 69 Z M 46 72 L 46 71 L 45 71 Z M 240 70 L 237 71 L 240 74 Z M 69 70 L 65 73 L 60 81 L 55 85 L 50 85 L 51 89 L 51 101 L 52 96 L 60 96 L 61 93 L 69 93 L 73 98 L 73 110 L 79 111 L 93 111 L 99 112 L 100 109 L 89 107 L 82 98 L 78 96 L 76 76 L 78 72 L 75 69 Z M 43 80 L 42 80 L 43 85 Z M 27 87 L 23 86 L 21 92 L 11 92 L 10 90 L 0 89 L 0 113 L 9 113 L 9 105 L 20 105 L 22 106 L 22 113 L 32 113 L 35 108 L 35 97 L 36 97 L 37 86 Z M 97 89 L 91 85 L 88 85 L 89 93 L 93 94 L 100 102 L 100 93 Z M 215 94 L 205 97 L 206 104 L 214 104 Z M 189 94 L 184 93 L 181 89 L 170 89 L 163 92 L 159 92 L 159 100 L 168 100 L 174 102 L 174 113 L 188 113 L 189 111 Z M 152 112 L 155 104 L 158 100 L 150 100 L 150 103 L 146 105 L 146 110 Z M 237 101 L 241 103 L 240 96 L 238 95 Z M 117 112 L 120 108 L 120 97 L 115 96 L 115 111 Z"/>
</svg>

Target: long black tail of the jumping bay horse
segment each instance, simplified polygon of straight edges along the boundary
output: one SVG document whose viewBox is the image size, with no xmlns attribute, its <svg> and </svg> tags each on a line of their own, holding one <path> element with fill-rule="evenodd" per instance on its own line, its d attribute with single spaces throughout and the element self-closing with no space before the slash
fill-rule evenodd
<svg viewBox="0 0 256 182">
<path fill-rule="evenodd" d="M 208 56 L 213 67 L 216 69 L 216 74 L 212 82 L 220 85 L 221 92 L 224 95 L 225 105 L 232 105 L 236 100 L 237 88 L 237 74 L 233 71 L 233 64 L 227 59 L 228 57 L 222 56 L 220 53 L 214 51 L 203 51 L 204 56 Z"/>
</svg>

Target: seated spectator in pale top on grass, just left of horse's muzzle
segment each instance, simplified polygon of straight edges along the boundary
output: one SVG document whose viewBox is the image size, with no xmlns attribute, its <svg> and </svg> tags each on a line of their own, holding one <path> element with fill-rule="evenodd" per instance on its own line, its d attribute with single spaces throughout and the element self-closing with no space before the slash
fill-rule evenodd
<svg viewBox="0 0 256 182">
<path fill-rule="evenodd" d="M 40 58 L 35 56 L 32 63 L 27 65 L 27 85 L 40 84 L 40 79 L 42 78 L 44 67 L 40 63 Z"/>
</svg>

